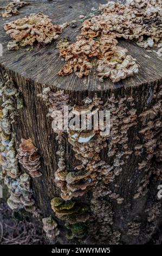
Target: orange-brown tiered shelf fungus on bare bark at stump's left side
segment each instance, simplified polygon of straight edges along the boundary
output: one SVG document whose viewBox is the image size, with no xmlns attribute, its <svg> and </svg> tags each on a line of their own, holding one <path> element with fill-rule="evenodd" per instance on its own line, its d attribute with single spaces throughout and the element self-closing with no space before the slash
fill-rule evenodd
<svg viewBox="0 0 162 256">
<path fill-rule="evenodd" d="M 18 162 L 29 171 L 31 177 L 40 177 L 42 173 L 40 155 L 37 153 L 38 149 L 35 147 L 31 139 L 21 139 L 19 153 L 17 154 Z"/>
</svg>

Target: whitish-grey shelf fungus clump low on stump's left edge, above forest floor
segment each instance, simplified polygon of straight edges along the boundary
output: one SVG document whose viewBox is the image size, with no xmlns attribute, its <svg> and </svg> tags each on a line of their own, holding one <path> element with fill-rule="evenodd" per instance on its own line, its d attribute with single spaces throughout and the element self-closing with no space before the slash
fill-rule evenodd
<svg viewBox="0 0 162 256">
<path fill-rule="evenodd" d="M 33 190 L 30 187 L 30 176 L 28 174 L 21 174 L 17 179 L 5 176 L 4 182 L 11 193 L 8 199 L 8 206 L 11 210 L 22 208 L 29 212 L 36 210 Z"/>
</svg>

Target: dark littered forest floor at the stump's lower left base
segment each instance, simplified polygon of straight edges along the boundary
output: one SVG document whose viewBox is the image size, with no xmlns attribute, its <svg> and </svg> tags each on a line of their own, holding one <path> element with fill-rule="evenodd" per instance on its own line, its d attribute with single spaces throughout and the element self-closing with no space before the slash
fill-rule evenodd
<svg viewBox="0 0 162 256">
<path fill-rule="evenodd" d="M 0 199 L 0 244 L 1 245 L 47 245 L 42 227 L 29 221 L 28 216 L 9 209 L 7 203 Z"/>
</svg>

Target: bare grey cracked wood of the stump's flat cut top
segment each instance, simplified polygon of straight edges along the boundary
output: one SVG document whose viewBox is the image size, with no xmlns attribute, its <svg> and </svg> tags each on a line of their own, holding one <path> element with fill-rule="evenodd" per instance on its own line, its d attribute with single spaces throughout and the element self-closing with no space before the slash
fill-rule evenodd
<svg viewBox="0 0 162 256">
<path fill-rule="evenodd" d="M 0 0 L 0 6 L 8 4 L 10 1 Z M 93 67 L 90 75 L 84 78 L 78 78 L 72 74 L 67 77 L 60 77 L 57 72 L 65 64 L 59 58 L 59 50 L 55 47 L 56 42 L 62 38 L 69 37 L 74 42 L 76 35 L 80 32 L 80 15 L 88 16 L 92 13 L 92 8 L 98 8 L 99 4 L 107 3 L 106 0 L 57 0 L 57 1 L 37 1 L 26 0 L 30 5 L 20 9 L 20 14 L 9 18 L 0 17 L 0 43 L 3 45 L 3 56 L 0 57 L 0 64 L 5 68 L 14 71 L 25 79 L 31 79 L 42 85 L 73 91 L 98 91 L 115 89 L 120 87 L 134 87 L 141 84 L 150 84 L 162 79 L 161 59 L 155 52 L 148 53 L 144 48 L 140 48 L 133 42 L 121 40 L 119 45 L 127 48 L 128 53 L 137 59 L 139 64 L 139 74 L 134 77 L 128 77 L 118 83 L 112 83 L 107 78 L 100 82 L 97 76 L 96 68 Z M 43 13 L 56 25 L 64 22 L 77 21 L 77 27 L 68 26 L 64 29 L 60 38 L 52 42 L 48 47 L 34 47 L 31 51 L 26 51 L 27 47 L 20 48 L 18 51 L 9 51 L 7 44 L 12 39 L 3 29 L 5 23 L 14 21 L 33 13 Z"/>
</svg>

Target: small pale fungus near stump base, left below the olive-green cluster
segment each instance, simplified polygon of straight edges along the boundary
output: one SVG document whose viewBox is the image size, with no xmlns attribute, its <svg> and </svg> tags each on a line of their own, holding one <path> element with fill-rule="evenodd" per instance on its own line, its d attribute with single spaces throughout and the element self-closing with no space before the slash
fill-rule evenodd
<svg viewBox="0 0 162 256">
<path fill-rule="evenodd" d="M 56 221 L 50 216 L 42 219 L 43 230 L 46 232 L 46 236 L 51 241 L 56 241 L 57 236 L 60 234 L 59 228 L 57 228 Z"/>
</svg>

